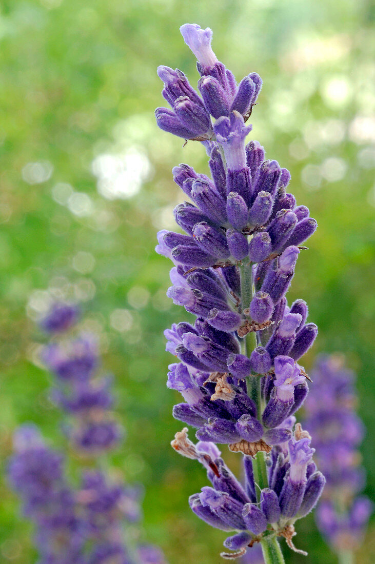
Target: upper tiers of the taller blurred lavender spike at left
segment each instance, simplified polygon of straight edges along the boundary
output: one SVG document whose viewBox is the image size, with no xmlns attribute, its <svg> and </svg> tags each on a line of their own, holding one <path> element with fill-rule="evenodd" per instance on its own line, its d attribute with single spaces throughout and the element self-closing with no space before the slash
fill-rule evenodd
<svg viewBox="0 0 375 564">
<path fill-rule="evenodd" d="M 69 309 L 69 306 L 67 306 Z M 56 311 L 55 308 L 52 312 Z M 63 305 L 59 305 L 61 319 L 65 319 Z M 51 314 L 48 314 L 47 319 Z M 50 333 L 59 333 L 61 327 Z M 42 327 L 47 323 L 42 321 Z M 111 408 L 111 377 L 96 378 L 99 355 L 96 340 L 91 335 L 61 342 L 52 342 L 44 347 L 42 360 L 55 376 L 58 386 L 53 397 L 70 416 L 73 424 L 66 426 L 75 448 L 86 456 L 96 456 L 118 444 L 121 428 L 114 420 Z"/>
</svg>

